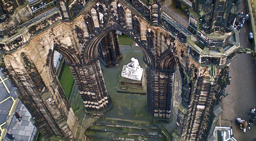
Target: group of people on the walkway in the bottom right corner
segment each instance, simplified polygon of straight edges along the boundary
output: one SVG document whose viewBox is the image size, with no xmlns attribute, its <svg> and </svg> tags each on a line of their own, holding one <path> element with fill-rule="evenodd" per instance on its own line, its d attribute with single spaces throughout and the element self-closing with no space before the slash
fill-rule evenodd
<svg viewBox="0 0 256 141">
<path fill-rule="evenodd" d="M 251 129 L 252 123 L 256 120 L 256 109 L 252 108 L 250 110 L 250 115 L 249 115 L 249 122 L 245 121 L 245 120 L 241 120 L 241 118 L 237 118 L 236 122 L 238 123 L 240 129 L 243 129 L 243 132 L 245 133 L 246 128 L 248 126 L 249 129 Z"/>
</svg>

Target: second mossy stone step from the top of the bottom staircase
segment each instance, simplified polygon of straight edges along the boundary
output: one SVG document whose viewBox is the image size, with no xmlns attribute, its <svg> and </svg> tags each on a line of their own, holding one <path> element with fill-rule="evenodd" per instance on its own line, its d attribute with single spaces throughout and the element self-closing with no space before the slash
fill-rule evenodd
<svg viewBox="0 0 256 141">
<path fill-rule="evenodd" d="M 89 130 L 99 131 L 99 132 L 112 132 L 112 133 L 127 134 L 127 135 L 142 136 L 142 137 L 165 138 L 164 134 L 161 133 L 161 130 L 158 130 L 158 129 L 145 130 L 145 129 L 93 125 L 91 128 L 89 128 Z"/>
</svg>

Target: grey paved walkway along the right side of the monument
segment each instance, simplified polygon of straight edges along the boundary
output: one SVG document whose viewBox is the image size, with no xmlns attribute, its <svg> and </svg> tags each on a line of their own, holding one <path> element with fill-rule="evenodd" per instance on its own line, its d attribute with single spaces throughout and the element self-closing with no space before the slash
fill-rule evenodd
<svg viewBox="0 0 256 141">
<path fill-rule="evenodd" d="M 247 13 L 245 0 L 241 2 L 242 12 Z M 248 42 L 250 32 L 246 23 L 239 32 L 240 45 L 252 49 Z M 252 49 L 253 50 L 253 49 Z M 249 121 L 249 110 L 256 107 L 255 60 L 252 54 L 238 54 L 230 64 L 231 84 L 226 91 L 229 95 L 222 102 L 221 126 L 233 126 L 234 137 L 238 141 L 252 141 L 256 137 L 256 123 L 244 133 L 235 123 L 236 118 Z"/>
</svg>

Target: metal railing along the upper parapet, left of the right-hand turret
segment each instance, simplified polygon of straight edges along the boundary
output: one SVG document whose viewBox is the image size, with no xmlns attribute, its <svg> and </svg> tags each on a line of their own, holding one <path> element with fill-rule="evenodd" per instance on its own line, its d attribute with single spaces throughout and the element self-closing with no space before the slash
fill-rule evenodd
<svg viewBox="0 0 256 141">
<path fill-rule="evenodd" d="M 164 4 L 161 4 L 161 9 L 162 11 L 164 11 L 166 14 L 168 14 L 173 20 L 175 20 L 176 22 L 178 22 L 179 24 L 181 24 L 183 27 L 185 27 L 186 29 L 188 29 L 188 31 L 190 31 L 191 33 L 194 34 L 194 32 L 196 33 L 197 30 L 194 27 L 189 26 L 189 23 L 185 20 L 183 20 L 180 16 L 178 16 L 175 12 L 173 12 L 171 9 L 169 9 L 167 6 L 165 6 Z"/>
</svg>

